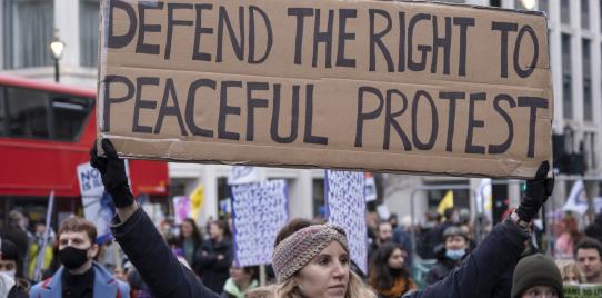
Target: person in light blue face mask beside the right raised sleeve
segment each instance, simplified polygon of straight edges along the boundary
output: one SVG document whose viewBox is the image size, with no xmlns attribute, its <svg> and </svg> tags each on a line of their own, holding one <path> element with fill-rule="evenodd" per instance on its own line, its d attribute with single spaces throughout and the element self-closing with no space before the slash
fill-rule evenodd
<svg viewBox="0 0 602 298">
<path fill-rule="evenodd" d="M 427 274 L 427 285 L 443 279 L 455 268 L 469 249 L 469 237 L 459 227 L 452 226 L 443 231 L 443 246 L 435 248 L 437 265 Z"/>
</svg>

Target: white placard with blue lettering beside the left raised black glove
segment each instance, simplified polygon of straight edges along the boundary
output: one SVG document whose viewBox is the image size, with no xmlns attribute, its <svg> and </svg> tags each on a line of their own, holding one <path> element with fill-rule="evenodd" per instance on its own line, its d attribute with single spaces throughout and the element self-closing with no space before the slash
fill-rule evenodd
<svg viewBox="0 0 602 298">
<path fill-rule="evenodd" d="M 111 239 L 111 220 L 116 215 L 111 195 L 104 191 L 100 172 L 84 162 L 78 166 L 78 182 L 83 206 L 83 217 L 97 227 L 97 244 Z"/>
</svg>

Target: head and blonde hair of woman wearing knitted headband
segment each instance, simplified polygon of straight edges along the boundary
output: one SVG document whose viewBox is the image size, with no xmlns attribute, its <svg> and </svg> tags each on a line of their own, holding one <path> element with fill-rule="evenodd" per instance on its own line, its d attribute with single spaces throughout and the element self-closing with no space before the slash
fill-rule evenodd
<svg viewBox="0 0 602 298">
<path fill-rule="evenodd" d="M 293 219 L 275 238 L 272 255 L 278 284 L 255 289 L 249 298 L 375 298 L 350 270 L 345 231 L 333 225 Z"/>
</svg>

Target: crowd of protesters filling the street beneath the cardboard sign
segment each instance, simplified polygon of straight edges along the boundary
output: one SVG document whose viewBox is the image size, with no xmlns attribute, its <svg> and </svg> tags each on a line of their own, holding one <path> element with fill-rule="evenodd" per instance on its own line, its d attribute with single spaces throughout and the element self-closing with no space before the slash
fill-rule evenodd
<svg viewBox="0 0 602 298">
<path fill-rule="evenodd" d="M 350 259 L 341 227 L 293 219 L 275 239 L 265 286 L 259 267 L 237 266 L 228 220 L 200 227 L 189 218 L 175 229 L 157 228 L 134 202 L 122 160 L 110 142 L 102 146 L 107 157 L 92 150 L 91 162 L 117 207 L 114 241 L 97 242 L 94 226 L 83 218 L 68 218 L 54 232 L 11 211 L 0 231 L 0 297 L 514 298 L 563 297 L 563 285 L 602 284 L 602 215 L 585 228 L 574 217 L 562 219 L 554 258 L 529 249 L 532 220 L 553 186 L 545 165 L 528 181 L 520 207 L 479 245 L 451 208 L 415 236 L 418 250 L 408 222 L 394 215 L 368 219 L 365 274 Z M 424 258 L 437 264 L 422 285 L 412 265 Z"/>
</svg>

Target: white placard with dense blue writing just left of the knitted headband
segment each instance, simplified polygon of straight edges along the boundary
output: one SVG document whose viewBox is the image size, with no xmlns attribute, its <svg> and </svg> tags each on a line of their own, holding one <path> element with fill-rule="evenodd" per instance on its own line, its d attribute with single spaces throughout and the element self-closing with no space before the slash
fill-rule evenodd
<svg viewBox="0 0 602 298">
<path fill-rule="evenodd" d="M 289 220 L 285 180 L 232 186 L 234 256 L 239 266 L 272 262 L 278 231 Z"/>
</svg>

